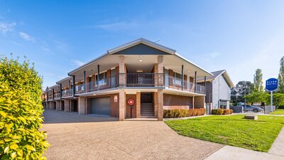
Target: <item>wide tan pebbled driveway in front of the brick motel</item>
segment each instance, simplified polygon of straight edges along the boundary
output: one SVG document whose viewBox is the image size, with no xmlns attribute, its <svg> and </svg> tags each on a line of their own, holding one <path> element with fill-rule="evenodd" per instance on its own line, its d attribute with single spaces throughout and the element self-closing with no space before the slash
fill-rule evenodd
<svg viewBox="0 0 284 160">
<path fill-rule="evenodd" d="M 48 159 L 205 159 L 224 145 L 182 137 L 164 122 L 46 110 Z"/>
</svg>

